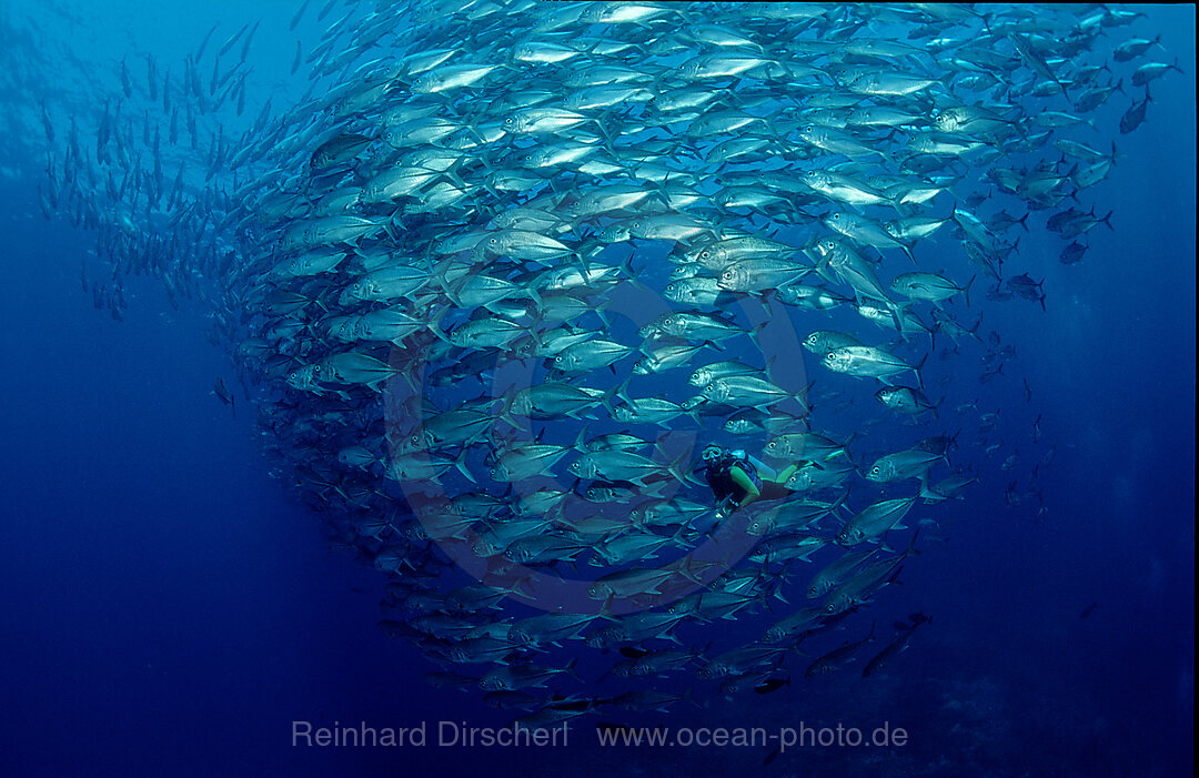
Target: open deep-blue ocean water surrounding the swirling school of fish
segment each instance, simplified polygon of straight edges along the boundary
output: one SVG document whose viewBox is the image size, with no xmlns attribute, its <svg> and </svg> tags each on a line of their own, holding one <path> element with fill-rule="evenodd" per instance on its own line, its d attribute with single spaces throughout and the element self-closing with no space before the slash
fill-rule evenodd
<svg viewBox="0 0 1199 778">
<path fill-rule="evenodd" d="M 1182 73 L 1155 84 L 1146 122 L 1116 138 L 1117 163 L 1095 187 L 1115 229 L 1097 228 L 1074 266 L 1056 261 L 1055 237 L 1030 234 L 1022 255 L 1049 258 L 1036 265 L 1046 310 L 987 307 L 986 327 L 1016 346 L 1008 369 L 1034 399 L 1014 378 L 969 396 L 981 410 L 1018 415 L 1012 438 L 1042 416 L 1042 441 L 1013 448 L 1024 458 L 1055 448 L 1041 478 L 1048 515 L 1008 506 L 999 462 L 968 453 L 988 474 L 984 488 L 945 508 L 950 539 L 926 544 L 880 605 L 880 627 L 915 610 L 933 617 L 885 674 L 796 673 L 773 694 L 628 719 L 888 722 L 910 734 L 903 747 L 795 749 L 767 766 L 767 747 L 601 748 L 591 719 L 561 748 L 291 744 L 296 720 L 435 729 L 510 717 L 478 694 L 430 688 L 423 676 L 435 668 L 378 629 L 380 575 L 331 550 L 319 520 L 270 476 L 249 404 L 234 417 L 212 396 L 215 376 L 234 381 L 206 337 L 203 302 L 176 309 L 157 282 L 133 276 L 123 321 L 92 308 L 79 265 L 95 263 L 94 235 L 42 217 L 41 158 L 28 139 L 41 132 L 38 102 L 71 105 L 82 122 L 102 110 L 91 95 L 119 89 L 108 83 L 113 62 L 146 53 L 175 61 L 171 52 L 194 47 L 217 19 L 222 38 L 263 18 L 255 89 L 299 97 L 305 84 L 288 73 L 295 8 L 0 6 L 0 60 L 13 64 L 0 82 L 4 774 L 1185 774 L 1194 686 L 1193 7 L 1146 8 L 1134 28 L 1162 32 Z M 67 116 L 56 120 L 62 127 Z M 815 364 L 809 372 L 821 378 Z M 866 628 L 858 619 L 845 639 Z"/>
</svg>

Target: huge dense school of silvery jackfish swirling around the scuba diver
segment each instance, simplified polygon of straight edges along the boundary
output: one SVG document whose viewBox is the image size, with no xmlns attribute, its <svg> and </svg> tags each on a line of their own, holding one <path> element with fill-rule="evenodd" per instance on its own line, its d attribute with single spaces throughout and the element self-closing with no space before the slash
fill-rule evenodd
<svg viewBox="0 0 1199 778">
<path fill-rule="evenodd" d="M 928 621 L 870 655 L 872 603 L 994 477 L 960 447 L 1048 514 L 1041 417 L 1022 454 L 962 375 L 1018 380 L 986 306 L 1047 304 L 1013 230 L 1074 264 L 1119 218 L 1087 189 L 1177 70 L 1143 14 L 308 5 L 309 97 L 241 134 L 257 25 L 120 62 L 94 139 L 43 108 L 43 210 L 97 233 L 97 307 L 141 272 L 211 307 L 275 472 L 387 575 L 430 683 L 541 726 L 872 675 Z M 710 442 L 799 465 L 790 496 L 717 513 Z"/>
</svg>

